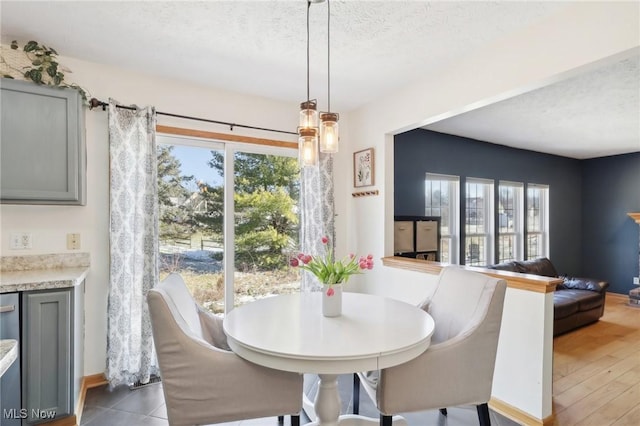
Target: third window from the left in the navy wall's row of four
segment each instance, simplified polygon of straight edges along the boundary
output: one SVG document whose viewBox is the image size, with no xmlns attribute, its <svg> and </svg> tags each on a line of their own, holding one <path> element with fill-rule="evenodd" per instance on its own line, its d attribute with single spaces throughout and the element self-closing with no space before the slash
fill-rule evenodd
<svg viewBox="0 0 640 426">
<path fill-rule="evenodd" d="M 498 262 L 521 260 L 523 244 L 524 185 L 500 182 L 498 186 Z"/>
</svg>

